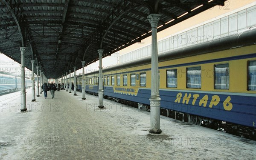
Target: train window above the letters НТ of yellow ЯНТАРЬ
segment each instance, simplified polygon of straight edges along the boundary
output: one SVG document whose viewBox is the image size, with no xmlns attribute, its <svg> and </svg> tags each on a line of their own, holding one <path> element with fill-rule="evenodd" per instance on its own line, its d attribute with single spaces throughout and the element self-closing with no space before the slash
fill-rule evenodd
<svg viewBox="0 0 256 160">
<path fill-rule="evenodd" d="M 201 67 L 186 68 L 186 87 L 201 89 Z"/>
</svg>

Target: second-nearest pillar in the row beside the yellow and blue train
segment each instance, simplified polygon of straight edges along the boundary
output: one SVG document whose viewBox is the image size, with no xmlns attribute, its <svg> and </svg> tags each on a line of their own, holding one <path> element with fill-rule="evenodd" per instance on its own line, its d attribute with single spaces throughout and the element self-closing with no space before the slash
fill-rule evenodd
<svg viewBox="0 0 256 160">
<path fill-rule="evenodd" d="M 99 108 L 103 109 L 104 105 L 103 105 L 103 81 L 102 81 L 102 53 L 103 53 L 103 49 L 98 49 L 98 53 L 99 53 L 99 90 L 98 90 L 98 94 L 99 94 Z"/>
</svg>

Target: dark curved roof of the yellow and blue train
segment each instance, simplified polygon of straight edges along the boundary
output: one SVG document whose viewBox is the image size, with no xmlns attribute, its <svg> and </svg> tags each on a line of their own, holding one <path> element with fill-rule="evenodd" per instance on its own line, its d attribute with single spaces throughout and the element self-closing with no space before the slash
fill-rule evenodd
<svg viewBox="0 0 256 160">
<path fill-rule="evenodd" d="M 242 46 L 250 46 L 253 44 L 256 44 L 256 27 L 241 31 L 233 35 L 224 36 L 224 37 L 212 40 L 211 42 L 199 43 L 199 44 L 187 46 L 181 49 L 176 49 L 176 50 L 168 51 L 162 54 L 158 54 L 158 61 L 162 62 L 165 60 L 174 60 L 178 58 L 190 57 L 190 56 L 195 56 L 199 54 L 207 54 L 207 53 L 216 52 L 216 51 L 223 51 L 226 49 L 239 48 Z M 105 69 L 103 68 L 103 71 L 106 72 L 106 71 L 112 71 L 112 70 L 118 70 L 118 69 L 125 69 L 130 67 L 141 66 L 142 64 L 146 65 L 150 63 L 151 63 L 151 57 L 145 57 L 139 60 L 117 64 L 115 66 L 111 66 Z M 89 74 L 87 73 L 87 75 L 98 74 L 98 73 L 99 71 L 93 71 Z"/>
</svg>

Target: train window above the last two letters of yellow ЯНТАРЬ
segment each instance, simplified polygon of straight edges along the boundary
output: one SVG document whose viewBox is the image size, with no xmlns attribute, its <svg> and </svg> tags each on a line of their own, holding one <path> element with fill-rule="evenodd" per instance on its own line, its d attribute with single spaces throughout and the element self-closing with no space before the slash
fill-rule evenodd
<svg viewBox="0 0 256 160">
<path fill-rule="evenodd" d="M 229 65 L 214 65 L 214 89 L 229 89 Z"/>
</svg>

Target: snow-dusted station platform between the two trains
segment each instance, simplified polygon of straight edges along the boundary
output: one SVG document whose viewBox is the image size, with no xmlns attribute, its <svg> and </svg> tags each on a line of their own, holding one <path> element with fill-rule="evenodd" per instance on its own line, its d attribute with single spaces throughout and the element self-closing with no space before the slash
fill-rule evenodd
<svg viewBox="0 0 256 160">
<path fill-rule="evenodd" d="M 160 116 L 86 94 L 48 91 L 20 112 L 20 92 L 0 97 L 0 160 L 255 160 L 256 141 Z"/>
</svg>

